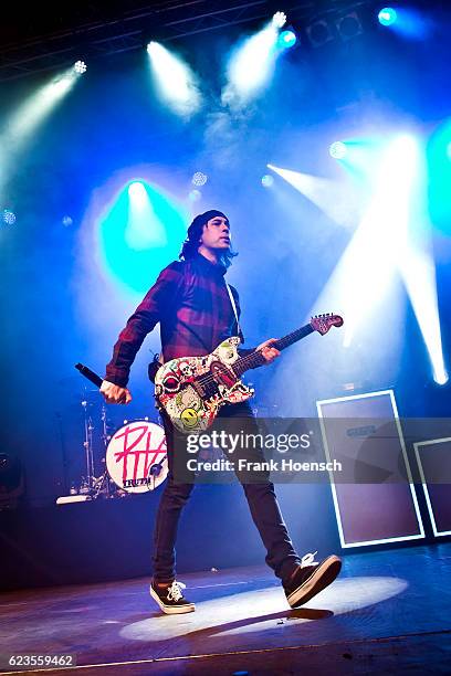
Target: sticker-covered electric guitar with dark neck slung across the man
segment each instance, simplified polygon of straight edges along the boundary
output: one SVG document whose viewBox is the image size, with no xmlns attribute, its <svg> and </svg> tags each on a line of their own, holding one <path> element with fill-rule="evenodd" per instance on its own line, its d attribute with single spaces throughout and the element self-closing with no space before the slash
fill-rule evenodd
<svg viewBox="0 0 451 676">
<path fill-rule="evenodd" d="M 343 325 L 339 315 L 317 315 L 302 328 L 280 338 L 271 347 L 283 350 L 313 331 L 322 336 Z M 155 376 L 156 404 L 174 426 L 186 434 L 203 432 L 227 403 L 247 401 L 254 394 L 241 380 L 248 369 L 262 366 L 261 350 L 240 357 L 240 338 L 232 336 L 206 357 L 181 357 L 164 363 Z"/>
</svg>

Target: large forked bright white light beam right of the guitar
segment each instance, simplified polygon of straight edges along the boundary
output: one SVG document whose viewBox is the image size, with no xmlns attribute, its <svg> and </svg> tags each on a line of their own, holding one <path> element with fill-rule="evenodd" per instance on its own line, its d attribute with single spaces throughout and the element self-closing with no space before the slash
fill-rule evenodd
<svg viewBox="0 0 451 676">
<path fill-rule="evenodd" d="M 370 326 L 369 317 L 387 305 L 387 292 L 399 272 L 431 360 L 433 378 L 448 381 L 438 311 L 436 270 L 421 208 L 423 177 L 417 141 L 402 136 L 384 154 L 368 210 L 316 306 L 335 299 L 345 316 L 344 346 Z M 418 215 L 420 214 L 420 215 Z M 334 305 L 335 307 L 335 305 Z M 395 336 L 390 338 L 390 342 Z"/>
</svg>

